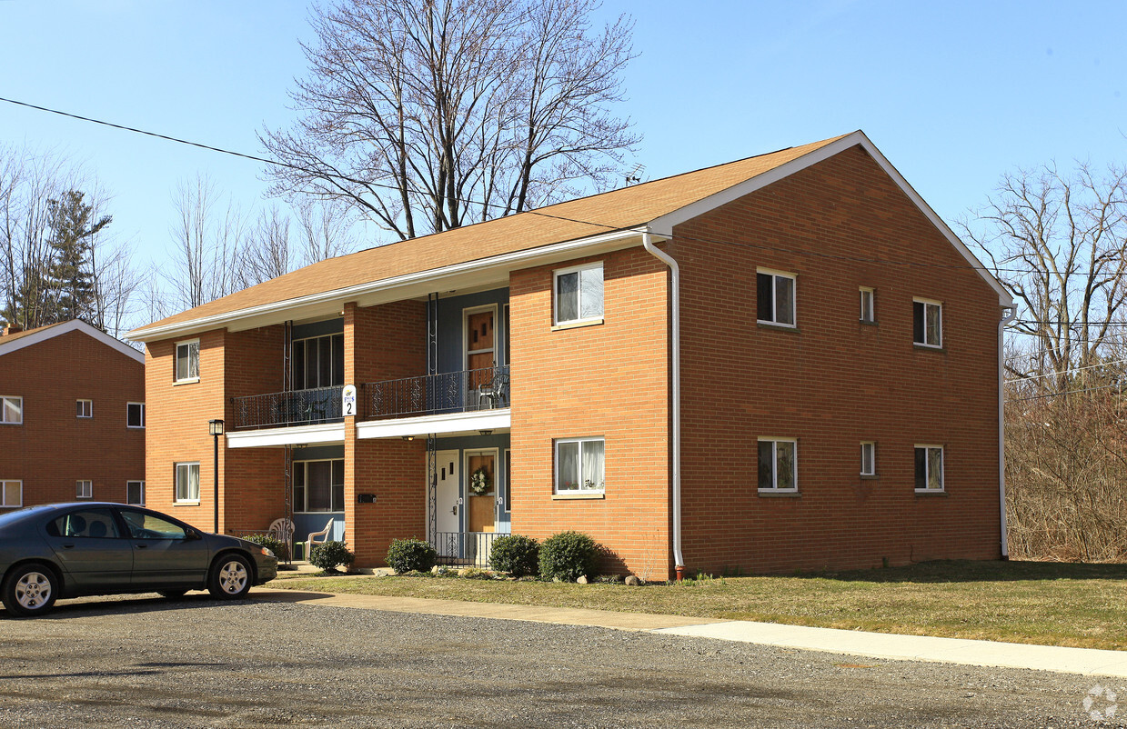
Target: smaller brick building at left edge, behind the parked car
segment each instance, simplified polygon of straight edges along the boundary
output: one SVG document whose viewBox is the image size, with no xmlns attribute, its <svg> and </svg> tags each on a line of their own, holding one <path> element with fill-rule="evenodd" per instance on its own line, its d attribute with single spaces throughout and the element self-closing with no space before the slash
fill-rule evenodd
<svg viewBox="0 0 1127 729">
<path fill-rule="evenodd" d="M 144 355 L 82 321 L 0 336 L 0 508 L 144 504 Z"/>
</svg>

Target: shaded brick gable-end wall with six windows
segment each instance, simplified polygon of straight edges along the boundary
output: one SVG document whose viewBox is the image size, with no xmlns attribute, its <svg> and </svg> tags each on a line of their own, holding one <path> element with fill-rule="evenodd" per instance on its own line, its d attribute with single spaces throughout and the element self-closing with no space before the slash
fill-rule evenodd
<svg viewBox="0 0 1127 729">
<path fill-rule="evenodd" d="M 1000 555 L 997 295 L 872 159 L 853 148 L 674 233 L 690 569 Z M 757 266 L 798 275 L 797 331 L 756 326 Z M 913 296 L 943 302 L 943 352 L 913 346 Z M 757 494 L 758 436 L 798 438 L 800 497 Z M 944 496 L 914 492 L 917 443 L 944 445 Z"/>
</svg>

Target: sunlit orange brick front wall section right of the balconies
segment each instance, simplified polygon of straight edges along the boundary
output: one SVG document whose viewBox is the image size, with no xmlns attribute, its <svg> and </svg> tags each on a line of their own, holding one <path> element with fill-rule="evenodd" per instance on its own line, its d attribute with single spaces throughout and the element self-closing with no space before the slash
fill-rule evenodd
<svg viewBox="0 0 1127 729">
<path fill-rule="evenodd" d="M 603 260 L 604 323 L 552 330 L 552 272 Z M 509 277 L 513 532 L 579 530 L 606 571 L 669 569 L 667 268 L 633 248 Z M 603 436 L 603 499 L 553 499 L 553 438 Z"/>
</svg>

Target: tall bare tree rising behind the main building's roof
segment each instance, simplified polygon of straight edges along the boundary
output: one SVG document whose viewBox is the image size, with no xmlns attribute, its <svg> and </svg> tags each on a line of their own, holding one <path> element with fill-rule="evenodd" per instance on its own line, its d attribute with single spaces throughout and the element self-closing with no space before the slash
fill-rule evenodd
<svg viewBox="0 0 1127 729">
<path fill-rule="evenodd" d="M 632 21 L 596 0 L 337 0 L 312 19 L 272 190 L 341 201 L 400 239 L 605 186 L 638 137 L 623 98 Z M 473 201 L 471 203 L 471 201 Z"/>
</svg>

